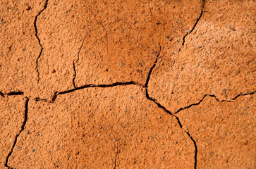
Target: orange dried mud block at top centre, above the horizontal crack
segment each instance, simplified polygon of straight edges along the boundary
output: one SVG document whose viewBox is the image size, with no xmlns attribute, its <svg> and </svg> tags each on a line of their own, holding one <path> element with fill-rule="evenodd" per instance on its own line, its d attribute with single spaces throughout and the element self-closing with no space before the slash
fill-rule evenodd
<svg viewBox="0 0 256 169">
<path fill-rule="evenodd" d="M 87 1 L 102 25 L 107 42 L 85 35 L 75 83 L 106 84 L 134 81 L 145 84 L 161 48 L 181 45 L 185 30 L 200 15 L 201 1 Z M 193 15 L 191 15 L 193 13 Z M 178 42 L 177 42 L 178 41 Z M 102 50 L 104 49 L 104 50 Z"/>
</svg>

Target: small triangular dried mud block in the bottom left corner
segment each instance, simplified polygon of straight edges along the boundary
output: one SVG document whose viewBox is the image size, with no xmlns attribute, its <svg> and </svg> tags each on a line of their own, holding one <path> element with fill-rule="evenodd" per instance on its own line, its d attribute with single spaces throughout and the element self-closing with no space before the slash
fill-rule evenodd
<svg viewBox="0 0 256 169">
<path fill-rule="evenodd" d="M 16 135 L 23 125 L 25 99 L 22 96 L 0 96 L 0 168 L 4 168 Z"/>
</svg>

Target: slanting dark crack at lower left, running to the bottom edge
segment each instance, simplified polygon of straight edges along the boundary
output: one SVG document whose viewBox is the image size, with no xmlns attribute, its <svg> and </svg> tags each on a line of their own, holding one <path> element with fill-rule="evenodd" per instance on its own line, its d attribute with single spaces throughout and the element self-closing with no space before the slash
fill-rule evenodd
<svg viewBox="0 0 256 169">
<path fill-rule="evenodd" d="M 9 152 L 8 156 L 6 157 L 6 163 L 4 164 L 7 168 L 11 168 L 10 166 L 8 166 L 8 159 L 9 157 L 11 156 L 11 154 L 13 153 L 13 149 L 14 147 L 16 146 L 16 143 L 17 143 L 17 139 L 20 135 L 21 132 L 23 132 L 24 128 L 25 128 L 25 125 L 27 123 L 27 120 L 28 120 L 28 101 L 30 99 L 28 99 L 28 97 L 26 97 L 26 101 L 25 101 L 25 113 L 24 113 L 24 121 L 23 121 L 23 125 L 21 125 L 20 127 L 20 131 L 18 132 L 18 134 L 16 135 L 15 139 L 14 139 L 14 142 L 13 142 L 13 146 L 11 147 L 11 151 Z M 13 169 L 13 168 L 11 168 Z"/>
</svg>

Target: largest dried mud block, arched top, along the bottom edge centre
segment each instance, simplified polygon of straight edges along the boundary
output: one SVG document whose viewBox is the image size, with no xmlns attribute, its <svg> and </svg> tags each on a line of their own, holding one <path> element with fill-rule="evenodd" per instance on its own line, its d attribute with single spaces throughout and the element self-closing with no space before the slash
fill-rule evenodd
<svg viewBox="0 0 256 169">
<path fill-rule="evenodd" d="M 145 90 L 80 89 L 54 104 L 30 101 L 15 168 L 193 168 L 195 147 Z"/>
</svg>

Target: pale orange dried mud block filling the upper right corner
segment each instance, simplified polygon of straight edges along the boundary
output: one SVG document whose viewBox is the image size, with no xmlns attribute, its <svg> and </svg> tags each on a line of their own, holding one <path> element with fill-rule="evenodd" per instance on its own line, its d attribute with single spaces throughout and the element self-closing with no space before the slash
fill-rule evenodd
<svg viewBox="0 0 256 169">
<path fill-rule="evenodd" d="M 254 92 L 255 1 L 206 1 L 195 30 L 178 54 L 164 55 L 152 72 L 149 94 L 171 112 L 205 94 L 231 100 Z"/>
</svg>

